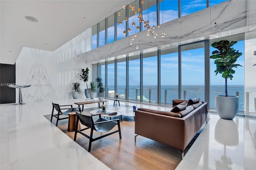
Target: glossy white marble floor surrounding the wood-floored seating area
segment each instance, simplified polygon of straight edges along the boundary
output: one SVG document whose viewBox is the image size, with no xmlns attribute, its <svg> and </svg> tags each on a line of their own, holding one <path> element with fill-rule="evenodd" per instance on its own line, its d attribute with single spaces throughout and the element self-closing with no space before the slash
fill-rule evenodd
<svg viewBox="0 0 256 170">
<path fill-rule="evenodd" d="M 84 100 L 54 102 L 66 105 Z M 109 169 L 43 116 L 51 113 L 51 102 L 0 105 L 0 169 Z M 113 101 L 108 101 L 107 104 L 113 105 Z M 120 104 L 136 105 L 125 102 Z M 85 105 L 85 108 L 97 105 Z M 140 104 L 136 107 L 163 111 L 169 109 Z M 256 124 L 256 120 L 250 123 L 253 121 Z M 256 148 L 244 117 L 227 121 L 210 114 L 210 121 L 176 169 L 252 170 L 255 167 Z"/>
</svg>

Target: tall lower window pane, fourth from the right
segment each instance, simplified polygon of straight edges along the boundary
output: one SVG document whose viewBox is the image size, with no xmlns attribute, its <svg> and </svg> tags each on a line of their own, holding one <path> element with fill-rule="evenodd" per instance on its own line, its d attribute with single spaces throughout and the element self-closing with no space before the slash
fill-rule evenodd
<svg viewBox="0 0 256 170">
<path fill-rule="evenodd" d="M 143 96 L 144 103 L 158 103 L 158 59 L 157 51 L 143 53 Z"/>
</svg>

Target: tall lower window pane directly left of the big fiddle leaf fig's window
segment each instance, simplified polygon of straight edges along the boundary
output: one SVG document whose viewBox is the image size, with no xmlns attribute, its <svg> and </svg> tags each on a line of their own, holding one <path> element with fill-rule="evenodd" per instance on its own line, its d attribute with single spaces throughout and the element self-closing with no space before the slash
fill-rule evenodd
<svg viewBox="0 0 256 170">
<path fill-rule="evenodd" d="M 204 42 L 181 46 L 181 99 L 204 101 Z"/>
</svg>

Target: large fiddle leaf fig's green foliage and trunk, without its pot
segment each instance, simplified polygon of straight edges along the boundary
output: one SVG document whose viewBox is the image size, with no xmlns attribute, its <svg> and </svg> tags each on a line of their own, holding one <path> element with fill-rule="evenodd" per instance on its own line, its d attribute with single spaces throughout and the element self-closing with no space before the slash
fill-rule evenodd
<svg viewBox="0 0 256 170">
<path fill-rule="evenodd" d="M 225 95 L 228 97 L 227 92 L 227 79 L 232 80 L 234 67 L 237 68 L 241 66 L 240 64 L 235 64 L 238 57 L 242 55 L 239 50 L 232 48 L 236 41 L 229 42 L 228 40 L 221 40 L 219 42 L 212 43 L 212 47 L 218 49 L 212 51 L 211 59 L 215 59 L 214 63 L 216 64 L 216 70 L 214 71 L 216 75 L 218 73 L 222 74 L 222 77 L 225 79 Z"/>
</svg>

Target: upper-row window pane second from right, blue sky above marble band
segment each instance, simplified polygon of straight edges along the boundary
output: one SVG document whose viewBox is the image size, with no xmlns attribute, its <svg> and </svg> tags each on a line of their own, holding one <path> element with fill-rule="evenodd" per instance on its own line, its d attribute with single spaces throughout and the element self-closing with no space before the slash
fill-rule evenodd
<svg viewBox="0 0 256 170">
<path fill-rule="evenodd" d="M 181 0 L 181 16 L 206 8 L 206 0 Z"/>
</svg>

